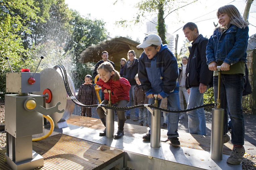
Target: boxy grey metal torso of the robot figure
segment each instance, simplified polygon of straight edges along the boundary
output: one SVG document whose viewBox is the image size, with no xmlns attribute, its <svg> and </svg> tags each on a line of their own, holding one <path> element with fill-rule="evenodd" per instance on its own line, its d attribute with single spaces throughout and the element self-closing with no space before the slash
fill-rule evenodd
<svg viewBox="0 0 256 170">
<path fill-rule="evenodd" d="M 42 133 L 42 114 L 24 108 L 25 100 L 30 97 L 42 104 L 42 96 L 38 95 L 5 95 L 5 129 L 15 138 Z"/>
</svg>

